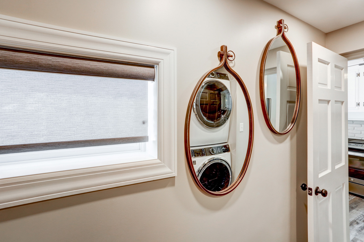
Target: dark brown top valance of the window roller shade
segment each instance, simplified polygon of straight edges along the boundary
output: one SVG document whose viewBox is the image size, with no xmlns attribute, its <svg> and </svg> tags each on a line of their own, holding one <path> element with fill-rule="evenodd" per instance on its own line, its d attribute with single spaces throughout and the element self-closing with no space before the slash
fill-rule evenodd
<svg viewBox="0 0 364 242">
<path fill-rule="evenodd" d="M 0 47 L 0 68 L 154 81 L 154 66 Z"/>
</svg>

